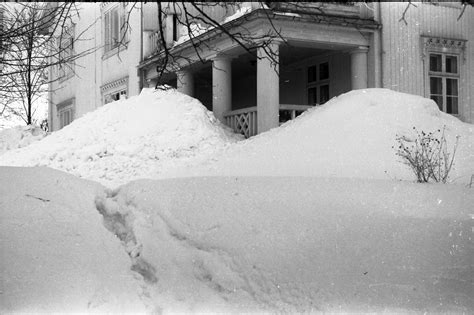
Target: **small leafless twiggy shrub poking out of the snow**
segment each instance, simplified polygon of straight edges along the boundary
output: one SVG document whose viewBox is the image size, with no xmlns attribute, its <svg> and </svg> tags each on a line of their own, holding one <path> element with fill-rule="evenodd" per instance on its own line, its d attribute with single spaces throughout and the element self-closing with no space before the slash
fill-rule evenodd
<svg viewBox="0 0 474 315">
<path fill-rule="evenodd" d="M 418 132 L 415 127 L 413 130 L 417 134 L 415 139 L 397 136 L 397 155 L 415 173 L 419 183 L 427 183 L 430 180 L 446 183 L 454 164 L 459 136 L 456 137 L 456 143 L 450 153 L 444 133 L 445 127 L 443 130 L 428 133 Z"/>
</svg>

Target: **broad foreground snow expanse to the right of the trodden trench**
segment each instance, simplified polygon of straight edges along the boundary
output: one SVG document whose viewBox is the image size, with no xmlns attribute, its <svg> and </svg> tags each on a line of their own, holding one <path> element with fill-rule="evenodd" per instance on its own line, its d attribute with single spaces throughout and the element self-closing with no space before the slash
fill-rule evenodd
<svg viewBox="0 0 474 315">
<path fill-rule="evenodd" d="M 98 200 L 128 218 L 115 227 L 164 312 L 471 313 L 473 204 L 460 185 L 303 177 L 140 180 Z"/>
</svg>

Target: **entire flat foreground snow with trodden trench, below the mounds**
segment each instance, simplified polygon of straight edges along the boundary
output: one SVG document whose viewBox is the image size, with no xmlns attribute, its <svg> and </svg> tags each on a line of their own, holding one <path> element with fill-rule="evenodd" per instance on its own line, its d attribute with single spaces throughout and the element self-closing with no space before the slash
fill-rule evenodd
<svg viewBox="0 0 474 315">
<path fill-rule="evenodd" d="M 2 313 L 474 311 L 472 188 L 0 173 Z"/>
</svg>

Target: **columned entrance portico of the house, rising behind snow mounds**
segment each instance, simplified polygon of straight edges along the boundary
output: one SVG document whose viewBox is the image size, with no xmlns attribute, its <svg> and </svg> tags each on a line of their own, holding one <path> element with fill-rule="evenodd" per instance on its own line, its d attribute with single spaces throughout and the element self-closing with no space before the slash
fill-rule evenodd
<svg viewBox="0 0 474 315">
<path fill-rule="evenodd" d="M 223 36 L 210 37 L 209 51 L 200 51 L 199 60 L 206 64 L 183 65 L 176 72 L 178 91 L 201 100 L 235 131 L 250 137 L 331 97 L 369 87 L 373 23 L 357 29 L 279 16 L 271 26 L 266 16 L 252 14 L 246 31 L 262 33 L 275 27 L 285 40 L 257 43 L 249 52 Z M 193 49 L 184 52 L 199 63 Z"/>
</svg>

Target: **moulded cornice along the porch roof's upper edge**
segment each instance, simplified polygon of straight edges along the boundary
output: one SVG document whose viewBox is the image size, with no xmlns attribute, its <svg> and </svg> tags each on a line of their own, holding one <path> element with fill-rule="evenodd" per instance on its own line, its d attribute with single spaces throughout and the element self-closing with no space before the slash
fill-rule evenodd
<svg viewBox="0 0 474 315">
<path fill-rule="evenodd" d="M 265 19 L 266 21 L 287 21 L 287 22 L 302 22 L 311 24 L 325 24 L 330 26 L 339 26 L 344 28 L 354 27 L 358 32 L 374 32 L 380 28 L 380 24 L 373 19 L 363 19 L 360 17 L 353 16 L 338 16 L 332 14 L 322 13 L 291 13 L 282 11 L 275 11 L 271 9 L 257 9 L 251 11 L 248 14 L 238 17 L 237 19 L 231 20 L 227 23 L 220 25 L 218 28 L 212 28 L 196 37 L 193 37 L 194 41 L 202 42 L 216 39 L 219 35 L 225 34 L 232 28 L 240 27 L 244 23 L 250 23 L 258 19 Z M 191 40 L 187 40 L 184 43 L 176 45 L 169 49 L 171 54 L 177 54 L 186 49 L 193 48 Z M 138 65 L 139 69 L 147 68 L 148 66 L 156 63 L 158 60 L 163 58 L 165 52 L 163 50 L 157 51 L 151 55 L 148 59 L 140 62 Z"/>
</svg>

